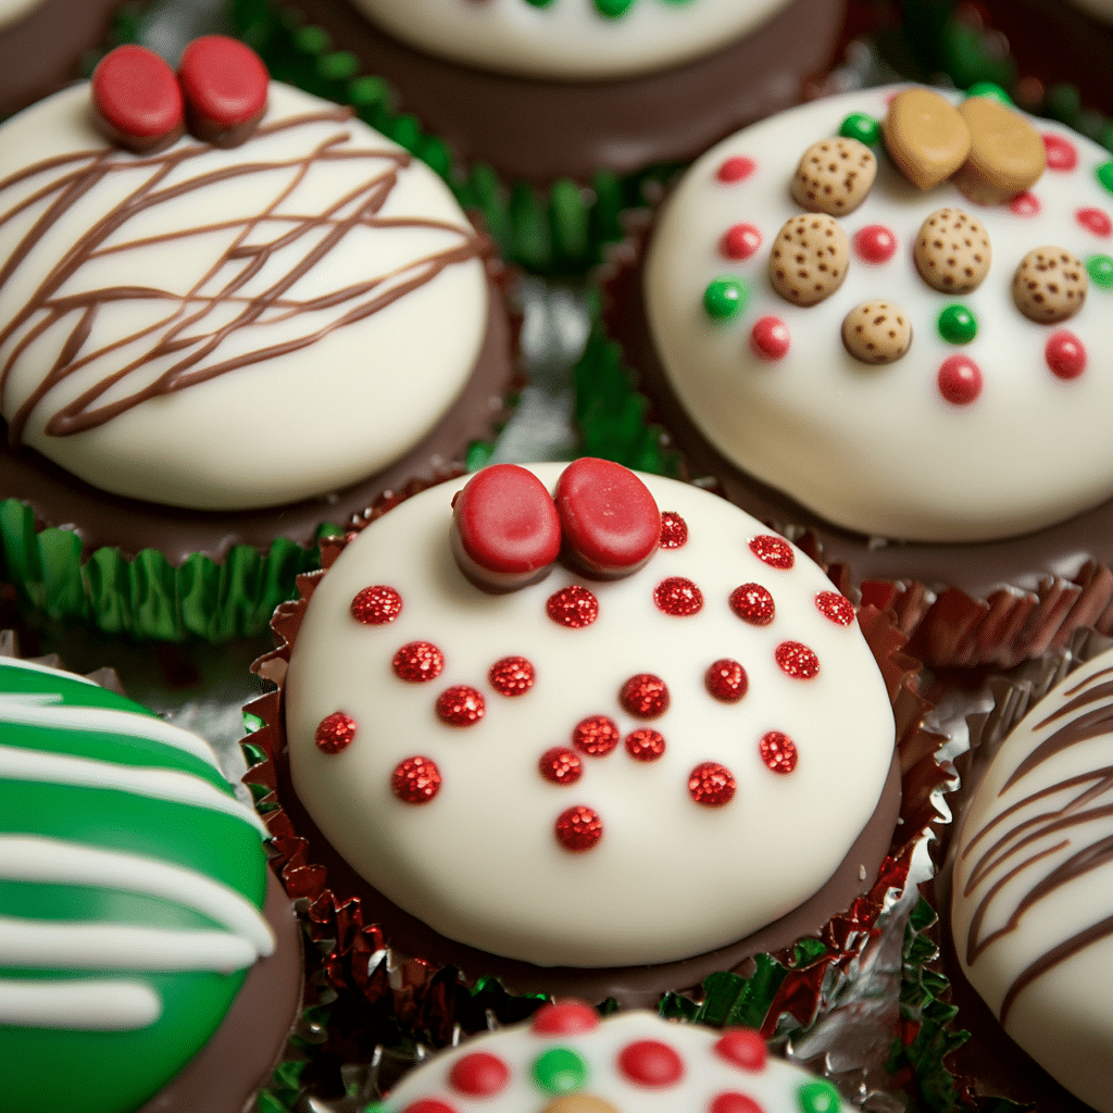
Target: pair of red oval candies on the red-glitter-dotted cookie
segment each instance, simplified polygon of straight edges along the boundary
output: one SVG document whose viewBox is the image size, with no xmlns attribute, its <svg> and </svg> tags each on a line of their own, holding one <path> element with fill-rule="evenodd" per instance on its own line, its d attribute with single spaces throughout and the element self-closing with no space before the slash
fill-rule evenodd
<svg viewBox="0 0 1113 1113">
<path fill-rule="evenodd" d="M 657 549 L 661 514 L 633 472 L 609 460 L 577 460 L 555 492 L 516 464 L 477 472 L 452 503 L 452 551 L 485 591 L 514 591 L 548 574 L 558 558 L 593 579 L 637 572 Z"/>
</svg>

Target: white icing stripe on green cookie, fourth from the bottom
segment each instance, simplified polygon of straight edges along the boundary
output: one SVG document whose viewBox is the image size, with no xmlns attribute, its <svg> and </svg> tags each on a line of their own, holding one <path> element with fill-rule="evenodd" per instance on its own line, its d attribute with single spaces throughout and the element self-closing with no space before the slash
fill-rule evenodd
<svg viewBox="0 0 1113 1113">
<path fill-rule="evenodd" d="M 46 754 L 16 746 L 0 746 L 0 778 L 41 780 L 80 788 L 108 788 L 132 796 L 191 805 L 207 811 L 218 811 L 240 823 L 250 824 L 263 838 L 267 829 L 255 812 L 235 797 L 193 774 L 176 769 L 144 769 L 137 766 L 112 765 L 93 758 L 75 758 L 66 754 Z"/>
</svg>

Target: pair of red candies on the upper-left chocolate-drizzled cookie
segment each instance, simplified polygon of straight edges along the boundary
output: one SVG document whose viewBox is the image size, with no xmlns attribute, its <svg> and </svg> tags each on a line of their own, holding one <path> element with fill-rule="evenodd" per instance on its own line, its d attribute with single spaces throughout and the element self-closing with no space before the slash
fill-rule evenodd
<svg viewBox="0 0 1113 1113">
<path fill-rule="evenodd" d="M 204 142 L 237 147 L 263 118 L 269 85 L 263 59 L 223 35 L 194 39 L 177 73 L 146 47 L 117 47 L 92 75 L 93 118 L 139 155 L 169 147 L 187 126 Z"/>
</svg>

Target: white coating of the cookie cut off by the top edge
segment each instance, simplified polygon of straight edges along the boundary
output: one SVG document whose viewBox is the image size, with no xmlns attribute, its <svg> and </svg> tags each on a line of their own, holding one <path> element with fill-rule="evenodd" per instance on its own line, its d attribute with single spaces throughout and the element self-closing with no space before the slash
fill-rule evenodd
<svg viewBox="0 0 1113 1113">
<path fill-rule="evenodd" d="M 667 69 L 749 35 L 788 0 L 352 0 L 376 23 L 433 55 L 483 69 L 607 80 Z"/>
</svg>

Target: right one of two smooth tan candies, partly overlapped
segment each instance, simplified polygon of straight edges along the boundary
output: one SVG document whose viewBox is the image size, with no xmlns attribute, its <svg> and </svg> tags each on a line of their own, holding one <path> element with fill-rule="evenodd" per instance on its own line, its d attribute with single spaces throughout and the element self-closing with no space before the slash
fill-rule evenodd
<svg viewBox="0 0 1113 1113">
<path fill-rule="evenodd" d="M 971 97 L 958 111 L 971 129 L 971 151 L 954 181 L 972 201 L 997 205 L 1040 180 L 1047 150 L 1020 112 L 993 97 Z"/>
</svg>

